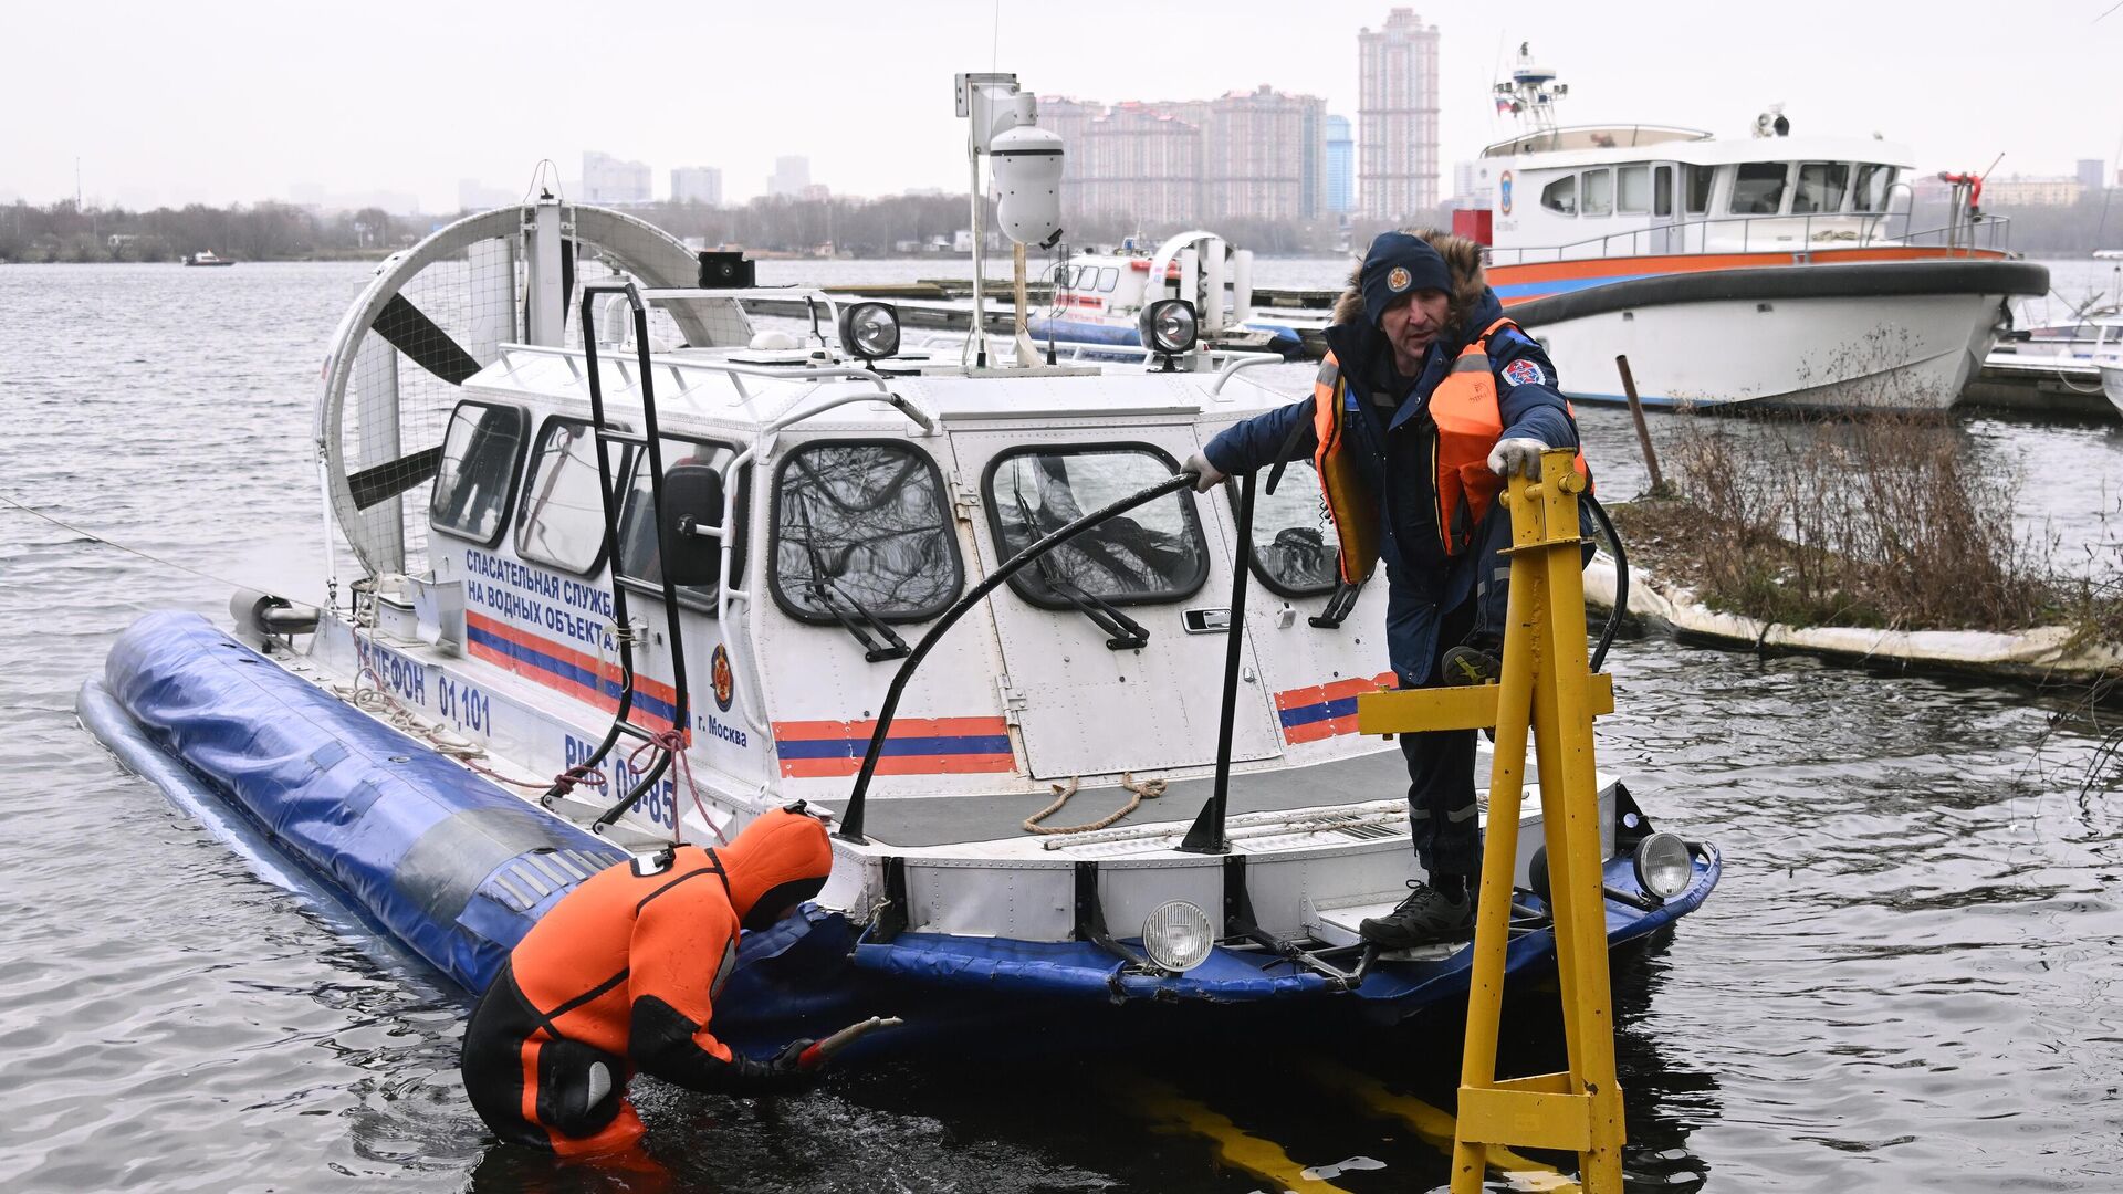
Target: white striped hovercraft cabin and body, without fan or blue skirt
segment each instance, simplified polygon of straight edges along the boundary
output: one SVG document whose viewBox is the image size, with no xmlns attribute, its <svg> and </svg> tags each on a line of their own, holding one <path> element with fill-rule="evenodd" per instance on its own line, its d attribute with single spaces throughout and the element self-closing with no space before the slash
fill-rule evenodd
<svg viewBox="0 0 2123 1194">
<path fill-rule="evenodd" d="M 429 576 L 374 578 L 367 616 L 327 620 L 316 648 L 331 671 L 367 667 L 527 792 L 611 724 L 618 635 L 643 729 L 671 727 L 681 661 L 684 767 L 616 822 L 633 841 L 713 839 L 792 799 L 845 814 L 904 644 L 1034 538 L 1287 402 L 1236 370 L 866 370 L 745 348 L 675 348 L 648 368 L 667 525 L 713 529 L 673 565 L 681 646 L 648 453 L 607 448 L 626 495 L 609 559 L 586 355 L 501 344 L 448 416 Z M 607 423 L 643 431 L 633 351 L 601 351 L 597 372 Z M 1176 897 L 1221 907 L 1223 860 L 1174 848 L 1212 786 L 1236 535 L 1225 489 L 1168 493 L 972 605 L 913 673 L 868 790 L 870 843 L 836 839 L 845 865 L 822 899 L 868 907 L 900 858 L 915 926 L 1059 941 L 1076 928 L 1072 867 L 1095 858 L 1115 924 Z M 1267 928 L 1354 943 L 1361 909 L 1391 905 L 1412 873 L 1408 780 L 1391 741 L 1354 733 L 1354 697 L 1393 684 L 1384 586 L 1316 622 L 1335 593 L 1331 544 L 1316 476 L 1295 463 L 1255 510 L 1229 833 L 1255 860 Z M 554 807 L 603 812 L 635 782 L 626 754 L 603 761 L 603 792 Z M 1049 824 L 1153 799 L 1108 829 L 1028 833 L 1057 788 L 1074 797 Z M 1539 835 L 1520 841 L 1531 856 Z"/>
</svg>

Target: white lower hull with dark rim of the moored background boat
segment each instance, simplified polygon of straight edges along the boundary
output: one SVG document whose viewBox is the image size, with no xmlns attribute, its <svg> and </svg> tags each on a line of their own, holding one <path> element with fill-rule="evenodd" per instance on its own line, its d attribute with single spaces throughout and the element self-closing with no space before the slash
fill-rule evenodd
<svg viewBox="0 0 2123 1194">
<path fill-rule="evenodd" d="M 1499 270 L 1499 287 L 1509 287 Z M 1577 402 L 1654 408 L 1945 410 L 1989 353 L 2023 261 L 1866 261 L 1605 280 L 1512 304 Z"/>
</svg>

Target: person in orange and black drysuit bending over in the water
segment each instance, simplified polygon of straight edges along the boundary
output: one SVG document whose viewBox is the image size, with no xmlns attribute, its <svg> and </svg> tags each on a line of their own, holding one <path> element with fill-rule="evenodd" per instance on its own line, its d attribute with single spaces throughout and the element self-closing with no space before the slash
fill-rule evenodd
<svg viewBox="0 0 2123 1194">
<path fill-rule="evenodd" d="M 737 931 L 781 920 L 830 871 L 826 826 L 775 809 L 720 850 L 677 846 L 592 875 L 531 926 L 471 1011 L 461 1064 L 480 1120 L 507 1143 L 592 1156 L 641 1139 L 626 1101 L 637 1069 L 728 1094 L 811 1086 L 811 1041 L 758 1062 L 709 1020 Z"/>
</svg>

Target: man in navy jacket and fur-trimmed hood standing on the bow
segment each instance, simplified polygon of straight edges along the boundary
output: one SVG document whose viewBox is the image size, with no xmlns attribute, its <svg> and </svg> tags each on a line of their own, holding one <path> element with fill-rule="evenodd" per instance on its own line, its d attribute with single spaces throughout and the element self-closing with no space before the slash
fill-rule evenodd
<svg viewBox="0 0 2123 1194">
<path fill-rule="evenodd" d="M 1482 249 L 1444 232 L 1386 232 L 1371 242 L 1350 289 L 1335 304 L 1327 346 L 1354 406 L 1346 436 L 1365 489 L 1380 504 L 1386 565 L 1386 654 L 1403 688 L 1495 678 L 1503 639 L 1505 580 L 1499 555 L 1512 538 L 1501 501 L 1475 527 L 1473 546 L 1446 555 L 1437 529 L 1431 393 L 1461 348 L 1503 317 L 1482 274 Z M 1488 340 L 1503 433 L 1488 455 L 1499 476 L 1539 476 L 1541 450 L 1577 444 L 1577 425 L 1556 391 L 1556 368 L 1516 327 Z M 1310 459 L 1314 402 L 1259 414 L 1210 440 L 1187 461 L 1206 491 L 1227 474 L 1278 459 Z M 1408 812 L 1416 860 L 1401 905 L 1363 922 L 1363 937 L 1399 950 L 1452 941 L 1473 928 L 1482 843 L 1475 826 L 1473 731 L 1403 733 Z"/>
</svg>

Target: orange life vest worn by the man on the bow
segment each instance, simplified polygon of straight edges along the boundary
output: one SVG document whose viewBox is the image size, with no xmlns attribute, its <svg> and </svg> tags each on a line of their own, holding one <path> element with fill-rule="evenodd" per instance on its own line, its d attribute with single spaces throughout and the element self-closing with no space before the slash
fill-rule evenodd
<svg viewBox="0 0 2123 1194">
<path fill-rule="evenodd" d="M 1488 467 L 1488 455 L 1503 436 L 1488 338 L 1503 327 L 1518 325 L 1499 319 L 1484 327 L 1461 348 L 1452 370 L 1431 391 L 1429 414 L 1437 425 L 1431 442 L 1437 542 L 1448 557 L 1473 544 L 1473 529 L 1482 525 L 1490 504 L 1497 501 L 1497 491 L 1503 489 L 1503 478 Z M 1563 410 L 1577 419 L 1569 402 Z M 1363 584 L 1378 569 L 1378 495 L 1359 472 L 1357 448 L 1348 440 L 1350 414 L 1357 414 L 1357 397 L 1348 393 L 1342 365 L 1329 353 L 1312 382 L 1312 431 L 1318 438 L 1312 465 L 1321 474 L 1321 493 L 1327 497 L 1327 512 L 1342 544 L 1342 580 Z M 1584 450 L 1577 453 L 1575 467 L 1577 476 L 1590 476 Z"/>
</svg>

